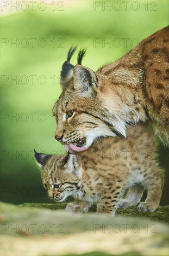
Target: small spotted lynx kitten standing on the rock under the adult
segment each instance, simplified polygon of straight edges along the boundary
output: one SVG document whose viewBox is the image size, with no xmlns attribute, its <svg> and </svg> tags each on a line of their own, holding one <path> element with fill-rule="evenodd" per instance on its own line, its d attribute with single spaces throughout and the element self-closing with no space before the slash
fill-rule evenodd
<svg viewBox="0 0 169 256">
<path fill-rule="evenodd" d="M 87 151 L 68 155 L 45 155 L 35 151 L 42 180 L 50 199 L 76 202 L 66 210 L 87 212 L 98 202 L 97 212 L 114 216 L 118 207 L 154 211 L 163 189 L 163 172 L 155 160 L 156 141 L 146 124 L 130 126 L 127 136 L 95 141 Z M 129 188 L 125 199 L 120 198 Z M 147 189 L 145 202 L 140 202 Z"/>
</svg>

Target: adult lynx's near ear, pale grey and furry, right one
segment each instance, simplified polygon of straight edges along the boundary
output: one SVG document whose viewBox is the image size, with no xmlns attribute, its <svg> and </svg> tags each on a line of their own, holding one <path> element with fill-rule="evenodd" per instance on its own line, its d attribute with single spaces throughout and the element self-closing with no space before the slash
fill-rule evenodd
<svg viewBox="0 0 169 256">
<path fill-rule="evenodd" d="M 93 89 L 97 86 L 97 76 L 92 69 L 75 65 L 73 70 L 74 88 L 84 94 L 92 94 Z"/>
</svg>

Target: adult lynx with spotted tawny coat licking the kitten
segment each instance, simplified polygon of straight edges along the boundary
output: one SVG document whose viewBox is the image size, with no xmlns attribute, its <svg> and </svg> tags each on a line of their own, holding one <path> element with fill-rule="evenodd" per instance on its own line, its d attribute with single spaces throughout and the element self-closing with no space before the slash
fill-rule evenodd
<svg viewBox="0 0 169 256">
<path fill-rule="evenodd" d="M 100 136 L 126 136 L 131 123 L 150 121 L 169 145 L 169 27 L 95 73 L 81 65 L 84 49 L 75 67 L 69 63 L 75 50 L 70 48 L 61 71 L 55 138 L 67 150 L 83 151 Z"/>
</svg>

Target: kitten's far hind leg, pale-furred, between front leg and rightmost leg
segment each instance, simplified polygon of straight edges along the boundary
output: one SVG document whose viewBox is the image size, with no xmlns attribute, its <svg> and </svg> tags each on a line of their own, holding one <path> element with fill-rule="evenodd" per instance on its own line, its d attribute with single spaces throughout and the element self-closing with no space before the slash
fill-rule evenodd
<svg viewBox="0 0 169 256">
<path fill-rule="evenodd" d="M 132 208 L 136 206 L 143 195 L 144 187 L 141 184 L 136 184 L 128 189 L 125 198 L 120 198 L 118 202 L 119 208 Z"/>
</svg>

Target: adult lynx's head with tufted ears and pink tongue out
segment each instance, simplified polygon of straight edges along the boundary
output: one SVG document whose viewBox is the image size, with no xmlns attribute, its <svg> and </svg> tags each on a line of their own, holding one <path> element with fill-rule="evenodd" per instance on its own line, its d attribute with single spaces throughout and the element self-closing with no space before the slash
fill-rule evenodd
<svg viewBox="0 0 169 256">
<path fill-rule="evenodd" d="M 76 47 L 70 48 L 67 61 L 61 71 L 63 92 L 53 108 L 56 117 L 56 140 L 62 142 L 66 151 L 83 151 L 88 149 L 99 136 L 125 136 L 125 123 L 119 122 L 116 113 L 120 101 L 114 97 L 111 104 L 107 97 L 112 94 L 105 86 L 105 76 L 94 73 L 81 65 L 86 50 L 80 50 L 78 64 L 69 63 Z M 109 108 L 113 111 L 109 112 Z"/>
</svg>

